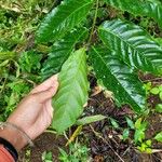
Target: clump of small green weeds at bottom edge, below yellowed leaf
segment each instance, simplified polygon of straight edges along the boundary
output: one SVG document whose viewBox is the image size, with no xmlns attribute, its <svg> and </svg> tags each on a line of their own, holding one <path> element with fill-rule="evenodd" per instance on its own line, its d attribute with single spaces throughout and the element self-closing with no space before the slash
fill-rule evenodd
<svg viewBox="0 0 162 162">
<path fill-rule="evenodd" d="M 69 145 L 68 153 L 59 148 L 58 159 L 60 162 L 89 162 L 89 148 L 76 141 Z"/>
</svg>

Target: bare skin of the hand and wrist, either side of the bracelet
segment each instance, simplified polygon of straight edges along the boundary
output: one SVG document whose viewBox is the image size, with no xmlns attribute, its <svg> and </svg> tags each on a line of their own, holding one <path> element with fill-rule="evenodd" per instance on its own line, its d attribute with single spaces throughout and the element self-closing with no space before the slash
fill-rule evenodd
<svg viewBox="0 0 162 162">
<path fill-rule="evenodd" d="M 53 76 L 36 86 L 9 117 L 8 122 L 18 126 L 31 139 L 37 138 L 51 124 L 53 118 L 52 97 L 58 89 L 57 76 Z M 17 151 L 27 140 L 15 129 L 9 126 L 0 131 L 0 136 L 9 140 Z"/>
</svg>

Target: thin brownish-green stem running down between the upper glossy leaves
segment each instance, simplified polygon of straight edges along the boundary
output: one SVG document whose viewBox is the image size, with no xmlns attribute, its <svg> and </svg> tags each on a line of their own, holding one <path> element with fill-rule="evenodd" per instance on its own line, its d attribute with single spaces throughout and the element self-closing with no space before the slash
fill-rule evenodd
<svg viewBox="0 0 162 162">
<path fill-rule="evenodd" d="M 94 32 L 94 29 L 95 29 L 95 24 L 96 24 L 97 13 L 98 13 L 98 6 L 99 6 L 99 0 L 96 0 L 96 10 L 95 10 L 94 18 L 93 18 L 93 24 L 92 24 L 92 29 L 91 29 L 90 38 L 89 38 L 89 41 L 87 41 L 87 46 L 91 43 L 91 40 L 92 40 L 92 37 L 93 37 L 93 32 Z"/>
</svg>

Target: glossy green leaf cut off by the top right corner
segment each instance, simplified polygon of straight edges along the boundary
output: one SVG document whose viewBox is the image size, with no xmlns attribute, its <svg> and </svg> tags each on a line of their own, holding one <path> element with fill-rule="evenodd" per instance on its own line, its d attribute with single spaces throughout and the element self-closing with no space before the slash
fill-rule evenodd
<svg viewBox="0 0 162 162">
<path fill-rule="evenodd" d="M 151 0 L 105 0 L 108 4 L 134 15 L 153 18 L 162 28 L 162 3 Z"/>
</svg>

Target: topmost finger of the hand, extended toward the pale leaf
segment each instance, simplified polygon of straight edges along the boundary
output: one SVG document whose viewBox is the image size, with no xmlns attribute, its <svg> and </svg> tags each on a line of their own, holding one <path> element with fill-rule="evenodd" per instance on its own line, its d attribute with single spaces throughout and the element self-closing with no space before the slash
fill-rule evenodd
<svg viewBox="0 0 162 162">
<path fill-rule="evenodd" d="M 45 80 L 43 83 L 41 83 L 40 85 L 36 86 L 30 92 L 30 94 L 39 93 L 39 92 L 42 92 L 42 91 L 46 91 L 48 89 L 55 86 L 55 84 L 57 84 L 57 83 L 58 83 L 57 75 L 52 76 L 51 78 Z"/>
</svg>

